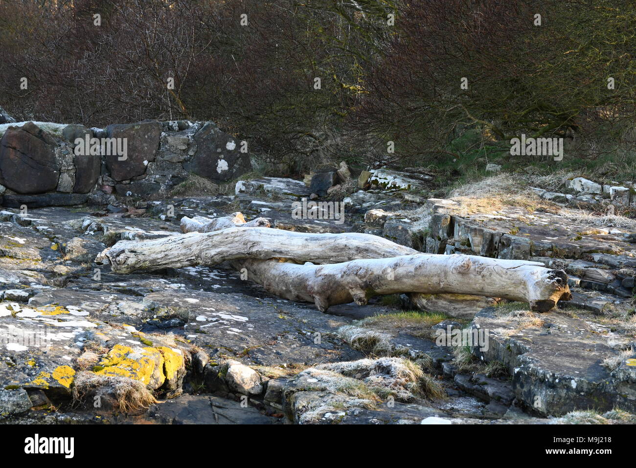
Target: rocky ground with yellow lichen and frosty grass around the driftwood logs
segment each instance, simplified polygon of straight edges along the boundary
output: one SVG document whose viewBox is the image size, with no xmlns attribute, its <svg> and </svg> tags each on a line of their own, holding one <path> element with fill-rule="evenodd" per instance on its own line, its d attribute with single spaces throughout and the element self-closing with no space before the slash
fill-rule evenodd
<svg viewBox="0 0 636 468">
<path fill-rule="evenodd" d="M 345 222 L 291 216 L 293 201 L 324 197 L 335 181 L 261 178 L 239 181 L 235 195 L 1 211 L 0 422 L 633 422 L 636 222 L 605 215 L 630 205 L 629 188 L 567 179 L 563 193 L 546 184 L 494 202 L 473 187 L 440 199 L 422 171 L 365 171 Z M 120 275 L 94 262 L 120 239 L 179 234 L 183 216 L 235 211 L 277 229 L 537 260 L 565 269 L 574 299 L 544 314 L 464 295 L 320 313 L 225 264 Z M 488 349 L 457 346 L 453 329 L 488 330 Z"/>
</svg>

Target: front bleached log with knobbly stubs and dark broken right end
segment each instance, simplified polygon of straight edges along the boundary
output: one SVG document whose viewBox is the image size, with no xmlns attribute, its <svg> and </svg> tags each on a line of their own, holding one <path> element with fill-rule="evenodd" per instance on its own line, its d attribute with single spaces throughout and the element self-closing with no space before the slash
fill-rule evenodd
<svg viewBox="0 0 636 468">
<path fill-rule="evenodd" d="M 247 278 L 272 294 L 291 301 L 329 306 L 366 304 L 375 295 L 396 293 L 473 294 L 528 302 L 546 312 L 561 299 L 572 298 L 567 275 L 544 268 L 538 262 L 501 260 L 473 255 L 404 255 L 388 259 L 352 260 L 340 264 L 313 265 L 235 260 Z"/>
</svg>

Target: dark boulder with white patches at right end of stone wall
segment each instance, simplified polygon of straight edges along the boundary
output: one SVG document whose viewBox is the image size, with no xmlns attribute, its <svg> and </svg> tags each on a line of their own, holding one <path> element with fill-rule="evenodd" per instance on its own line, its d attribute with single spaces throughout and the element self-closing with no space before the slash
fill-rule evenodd
<svg viewBox="0 0 636 468">
<path fill-rule="evenodd" d="M 183 168 L 214 181 L 225 182 L 251 171 L 248 153 L 240 152 L 240 142 L 207 122 L 194 136 L 197 153 Z"/>
</svg>

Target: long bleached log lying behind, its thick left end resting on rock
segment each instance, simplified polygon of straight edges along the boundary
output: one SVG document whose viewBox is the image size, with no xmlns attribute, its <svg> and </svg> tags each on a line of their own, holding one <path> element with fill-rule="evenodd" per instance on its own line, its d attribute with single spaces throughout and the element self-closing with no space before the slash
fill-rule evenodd
<svg viewBox="0 0 636 468">
<path fill-rule="evenodd" d="M 231 227 L 188 232 L 149 241 L 119 241 L 97 256 L 113 273 L 214 265 L 234 259 L 279 259 L 317 264 L 353 259 L 397 257 L 417 252 L 371 234 L 314 234 L 271 227 Z"/>
</svg>

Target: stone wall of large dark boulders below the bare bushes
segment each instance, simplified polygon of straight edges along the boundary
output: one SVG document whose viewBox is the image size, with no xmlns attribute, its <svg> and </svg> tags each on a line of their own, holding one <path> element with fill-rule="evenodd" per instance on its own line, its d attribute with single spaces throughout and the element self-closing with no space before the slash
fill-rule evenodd
<svg viewBox="0 0 636 468">
<path fill-rule="evenodd" d="M 167 194 L 188 174 L 222 183 L 251 171 L 241 142 L 213 122 L 146 121 L 106 129 L 21 122 L 0 125 L 0 135 L 0 198 L 13 208 L 147 198 Z M 126 158 L 104 148 L 75 151 L 77 138 L 125 138 Z"/>
</svg>

